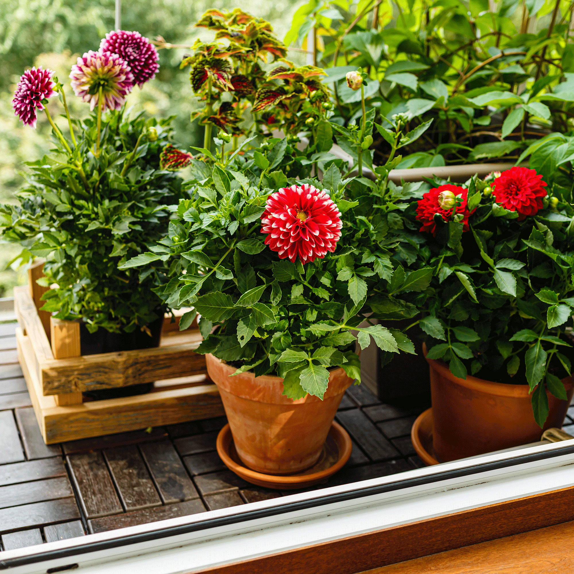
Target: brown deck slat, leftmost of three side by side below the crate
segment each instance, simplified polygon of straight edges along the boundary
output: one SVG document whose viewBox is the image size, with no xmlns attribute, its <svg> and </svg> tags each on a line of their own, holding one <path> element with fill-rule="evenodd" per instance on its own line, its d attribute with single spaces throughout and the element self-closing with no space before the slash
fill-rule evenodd
<svg viewBox="0 0 574 574">
<path fill-rule="evenodd" d="M 69 455 L 67 461 L 87 518 L 122 512 L 101 452 Z"/>
</svg>

